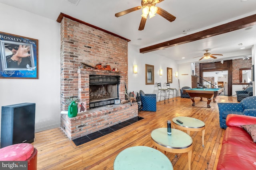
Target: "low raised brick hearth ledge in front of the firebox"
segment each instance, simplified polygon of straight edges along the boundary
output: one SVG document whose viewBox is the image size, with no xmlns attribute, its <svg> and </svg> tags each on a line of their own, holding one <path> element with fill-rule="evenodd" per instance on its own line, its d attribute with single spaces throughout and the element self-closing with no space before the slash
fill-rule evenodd
<svg viewBox="0 0 256 170">
<path fill-rule="evenodd" d="M 61 114 L 61 128 L 70 140 L 94 133 L 138 116 L 138 104 L 99 107 L 69 118 Z"/>
</svg>

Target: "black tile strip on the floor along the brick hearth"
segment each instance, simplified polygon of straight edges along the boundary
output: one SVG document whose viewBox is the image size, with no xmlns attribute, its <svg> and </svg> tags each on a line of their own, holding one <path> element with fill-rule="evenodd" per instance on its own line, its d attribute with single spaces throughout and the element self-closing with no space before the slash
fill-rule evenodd
<svg viewBox="0 0 256 170">
<path fill-rule="evenodd" d="M 111 132 L 114 132 L 114 131 L 117 131 L 117 130 L 119 130 L 119 129 L 122 129 L 123 127 L 126 127 L 126 126 L 128 126 L 128 125 L 131 125 L 132 123 L 135 123 L 135 122 L 140 121 L 140 120 L 142 120 L 142 119 L 144 119 L 144 118 L 137 116 L 137 117 L 134 117 L 134 118 L 129 119 L 129 120 L 127 120 L 127 121 L 124 121 L 124 122 L 122 122 L 122 123 L 118 123 L 118 124 L 116 124 L 116 125 L 107 127 L 107 128 L 102 129 L 102 130 L 100 130 L 100 131 L 96 131 L 96 132 L 94 132 L 94 133 L 91 133 L 91 134 L 85 135 L 85 136 L 83 136 L 83 137 L 74 139 L 74 140 L 72 140 L 72 141 L 73 141 L 73 143 L 74 143 L 76 146 L 79 146 L 79 145 L 82 145 L 82 144 L 84 144 L 84 143 L 86 143 L 86 142 L 89 142 L 89 141 L 92 141 L 92 140 L 97 139 L 97 138 L 99 138 L 99 137 L 102 137 L 102 136 L 104 136 L 104 135 L 107 135 L 107 134 L 109 134 L 109 133 L 111 133 Z"/>
</svg>

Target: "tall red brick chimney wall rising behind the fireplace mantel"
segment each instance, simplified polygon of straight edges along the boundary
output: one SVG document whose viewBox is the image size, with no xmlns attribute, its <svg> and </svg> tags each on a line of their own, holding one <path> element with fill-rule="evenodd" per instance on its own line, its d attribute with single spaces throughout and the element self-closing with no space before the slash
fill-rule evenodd
<svg viewBox="0 0 256 170">
<path fill-rule="evenodd" d="M 61 110 L 69 97 L 78 97 L 78 66 L 81 62 L 95 66 L 109 64 L 118 68 L 122 78 L 128 84 L 128 42 L 88 25 L 63 18 L 61 34 Z M 120 88 L 120 91 L 124 88 Z M 87 103 L 87 105 L 89 105 Z"/>
</svg>

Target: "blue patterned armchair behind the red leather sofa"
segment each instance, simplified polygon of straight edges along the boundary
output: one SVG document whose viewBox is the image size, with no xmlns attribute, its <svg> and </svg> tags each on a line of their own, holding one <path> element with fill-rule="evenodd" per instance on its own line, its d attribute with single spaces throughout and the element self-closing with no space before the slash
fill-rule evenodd
<svg viewBox="0 0 256 170">
<path fill-rule="evenodd" d="M 227 128 L 228 114 L 248 115 L 256 117 L 256 96 L 244 98 L 240 103 L 218 103 L 220 114 L 220 127 Z"/>
</svg>

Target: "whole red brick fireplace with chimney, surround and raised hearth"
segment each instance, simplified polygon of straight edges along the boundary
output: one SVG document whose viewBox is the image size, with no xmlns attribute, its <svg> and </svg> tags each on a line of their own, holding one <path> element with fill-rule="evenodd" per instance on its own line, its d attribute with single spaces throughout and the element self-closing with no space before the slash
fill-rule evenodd
<svg viewBox="0 0 256 170">
<path fill-rule="evenodd" d="M 86 102 L 86 111 L 78 113 L 76 117 L 61 115 L 61 127 L 68 138 L 76 139 L 138 116 L 137 103 L 112 105 L 112 107 L 103 104 L 102 107 L 90 108 L 90 76 L 118 77 L 118 94 L 110 98 L 125 100 L 125 83 L 128 84 L 127 39 L 88 26 L 74 18 L 63 17 L 59 21 L 61 21 L 60 107 L 62 111 L 67 110 L 68 105 L 65 103 L 70 97 L 77 97 L 79 102 Z M 90 66 L 99 63 L 108 64 L 118 71 L 78 68 L 81 63 Z"/>
</svg>

